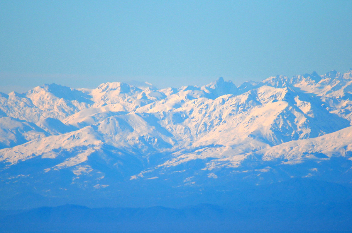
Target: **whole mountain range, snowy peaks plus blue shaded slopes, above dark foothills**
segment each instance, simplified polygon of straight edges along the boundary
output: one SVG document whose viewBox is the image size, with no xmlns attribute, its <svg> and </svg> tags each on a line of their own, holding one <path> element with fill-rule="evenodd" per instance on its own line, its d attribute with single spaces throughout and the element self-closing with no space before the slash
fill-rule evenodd
<svg viewBox="0 0 352 233">
<path fill-rule="evenodd" d="M 239 87 L 218 78 L 0 93 L 0 207 L 176 206 L 165 199 L 196 204 L 209 190 L 302 177 L 348 184 L 351 123 L 352 70 Z"/>
</svg>

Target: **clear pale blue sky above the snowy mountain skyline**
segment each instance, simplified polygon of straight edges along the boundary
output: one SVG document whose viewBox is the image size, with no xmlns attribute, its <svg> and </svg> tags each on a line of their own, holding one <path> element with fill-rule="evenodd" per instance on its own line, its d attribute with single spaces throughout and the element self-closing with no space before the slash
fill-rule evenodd
<svg viewBox="0 0 352 233">
<path fill-rule="evenodd" d="M 351 0 L 0 0 L 0 91 L 343 73 L 351 12 Z"/>
</svg>

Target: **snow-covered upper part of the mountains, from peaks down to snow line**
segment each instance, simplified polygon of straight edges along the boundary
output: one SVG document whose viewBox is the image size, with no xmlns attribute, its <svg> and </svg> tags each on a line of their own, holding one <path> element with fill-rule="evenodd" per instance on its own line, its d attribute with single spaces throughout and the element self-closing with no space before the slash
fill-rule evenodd
<svg viewBox="0 0 352 233">
<path fill-rule="evenodd" d="M 44 84 L 0 93 L 0 161 L 5 169 L 43 158 L 53 162 L 39 173 L 87 168 L 100 174 L 90 159 L 98 156 L 101 163 L 115 161 L 109 169 L 139 169 L 142 175 L 124 173 L 128 179 L 153 180 L 199 160 L 201 169 L 212 171 L 258 161 L 351 161 L 351 122 L 351 70 L 275 76 L 239 87 L 223 78 L 177 89 Z"/>
</svg>

